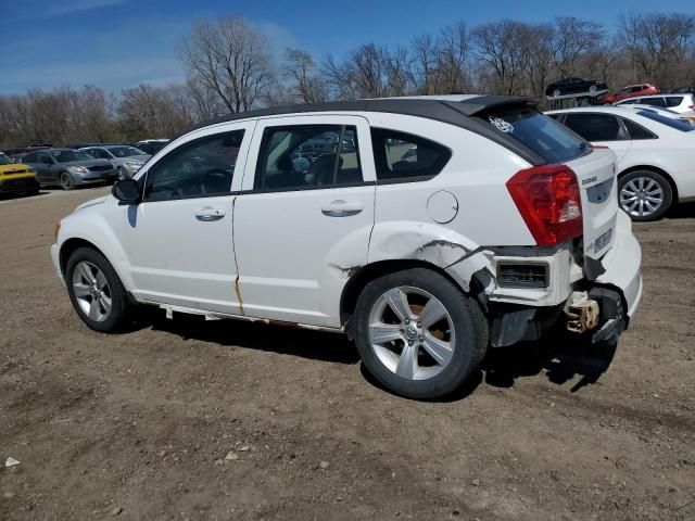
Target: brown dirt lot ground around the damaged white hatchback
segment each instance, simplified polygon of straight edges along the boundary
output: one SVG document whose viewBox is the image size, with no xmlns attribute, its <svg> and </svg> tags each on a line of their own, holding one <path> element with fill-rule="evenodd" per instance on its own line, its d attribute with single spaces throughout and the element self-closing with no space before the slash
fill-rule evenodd
<svg viewBox="0 0 695 521">
<path fill-rule="evenodd" d="M 636 226 L 615 356 L 517 345 L 418 403 L 329 333 L 88 330 L 48 245 L 103 191 L 0 202 L 0 519 L 695 519 L 695 206 Z"/>
</svg>

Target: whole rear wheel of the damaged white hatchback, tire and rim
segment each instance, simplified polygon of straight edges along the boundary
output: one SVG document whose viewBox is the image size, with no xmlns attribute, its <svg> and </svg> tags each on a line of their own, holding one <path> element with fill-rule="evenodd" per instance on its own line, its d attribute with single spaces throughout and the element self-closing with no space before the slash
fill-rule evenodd
<svg viewBox="0 0 695 521">
<path fill-rule="evenodd" d="M 387 389 L 420 399 L 451 394 L 478 369 L 488 322 L 478 303 L 424 268 L 368 283 L 357 300 L 355 340 L 366 369 Z"/>
</svg>

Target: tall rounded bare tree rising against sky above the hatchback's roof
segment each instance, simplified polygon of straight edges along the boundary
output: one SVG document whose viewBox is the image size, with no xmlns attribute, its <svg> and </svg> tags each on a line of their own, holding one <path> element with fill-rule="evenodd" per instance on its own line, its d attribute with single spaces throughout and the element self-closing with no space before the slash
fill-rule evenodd
<svg viewBox="0 0 695 521">
<path fill-rule="evenodd" d="M 235 113 L 250 110 L 275 81 L 265 36 L 242 17 L 197 23 L 181 45 L 181 59 L 189 77 Z"/>
</svg>

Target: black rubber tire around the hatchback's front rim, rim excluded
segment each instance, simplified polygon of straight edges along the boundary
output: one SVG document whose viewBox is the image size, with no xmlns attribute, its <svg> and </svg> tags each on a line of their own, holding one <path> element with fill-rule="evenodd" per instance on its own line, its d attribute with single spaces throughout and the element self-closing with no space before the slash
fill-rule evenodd
<svg viewBox="0 0 695 521">
<path fill-rule="evenodd" d="M 83 260 L 91 263 L 99 268 L 109 283 L 111 293 L 111 314 L 103 321 L 97 321 L 89 318 L 89 315 L 83 310 L 77 302 L 77 297 L 75 296 L 73 275 L 77 265 Z M 79 247 L 73 252 L 65 266 L 65 285 L 67 287 L 67 294 L 70 295 L 70 300 L 73 303 L 75 312 L 77 312 L 79 318 L 81 318 L 83 321 L 94 331 L 100 331 L 102 333 L 116 332 L 127 322 L 129 305 L 128 294 L 126 293 L 126 290 L 111 263 L 96 250 L 92 250 L 91 247 Z"/>
</svg>

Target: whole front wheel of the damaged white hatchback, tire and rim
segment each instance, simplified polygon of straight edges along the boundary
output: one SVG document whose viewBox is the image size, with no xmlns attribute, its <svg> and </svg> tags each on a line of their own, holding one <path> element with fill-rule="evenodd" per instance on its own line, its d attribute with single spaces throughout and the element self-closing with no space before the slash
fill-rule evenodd
<svg viewBox="0 0 695 521">
<path fill-rule="evenodd" d="M 76 250 L 67 259 L 65 285 L 77 315 L 91 329 L 113 332 L 124 325 L 126 290 L 101 253 L 90 247 Z"/>
</svg>

